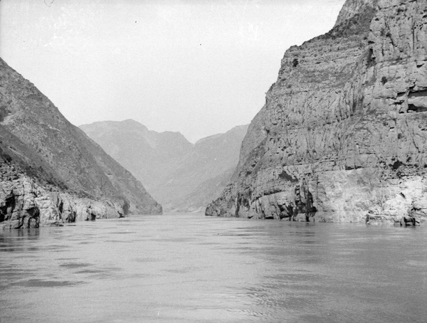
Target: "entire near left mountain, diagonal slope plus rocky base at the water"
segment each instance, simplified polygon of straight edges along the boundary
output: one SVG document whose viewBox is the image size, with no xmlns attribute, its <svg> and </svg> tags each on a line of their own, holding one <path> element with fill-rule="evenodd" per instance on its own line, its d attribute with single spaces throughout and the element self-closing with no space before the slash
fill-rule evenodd
<svg viewBox="0 0 427 323">
<path fill-rule="evenodd" d="M 0 58 L 0 223 L 162 213 L 142 184 Z"/>
</svg>

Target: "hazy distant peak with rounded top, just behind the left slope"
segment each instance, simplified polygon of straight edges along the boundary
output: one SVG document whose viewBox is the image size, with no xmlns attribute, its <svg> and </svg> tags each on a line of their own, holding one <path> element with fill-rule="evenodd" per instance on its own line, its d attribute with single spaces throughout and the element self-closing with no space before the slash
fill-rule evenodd
<svg viewBox="0 0 427 323">
<path fill-rule="evenodd" d="M 94 122 L 80 125 L 80 129 L 131 171 L 154 196 L 158 183 L 193 147 L 179 132 L 150 131 L 134 120 Z"/>
</svg>

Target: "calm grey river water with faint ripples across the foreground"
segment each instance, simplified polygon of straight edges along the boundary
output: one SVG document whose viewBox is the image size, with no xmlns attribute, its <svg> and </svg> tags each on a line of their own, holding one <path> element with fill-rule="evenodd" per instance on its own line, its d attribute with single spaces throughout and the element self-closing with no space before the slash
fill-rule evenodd
<svg viewBox="0 0 427 323">
<path fill-rule="evenodd" d="M 426 224 L 192 214 L 0 233 L 0 322 L 426 321 Z"/>
</svg>

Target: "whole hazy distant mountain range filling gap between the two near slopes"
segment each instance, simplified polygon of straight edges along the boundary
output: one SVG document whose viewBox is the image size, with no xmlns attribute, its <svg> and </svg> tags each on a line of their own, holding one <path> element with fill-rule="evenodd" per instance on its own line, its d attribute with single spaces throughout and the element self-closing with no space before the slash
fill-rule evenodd
<svg viewBox="0 0 427 323">
<path fill-rule="evenodd" d="M 237 165 L 247 128 L 234 127 L 191 144 L 179 132 L 154 132 L 134 120 L 80 126 L 165 210 L 182 212 L 204 209 L 222 191 Z"/>
</svg>

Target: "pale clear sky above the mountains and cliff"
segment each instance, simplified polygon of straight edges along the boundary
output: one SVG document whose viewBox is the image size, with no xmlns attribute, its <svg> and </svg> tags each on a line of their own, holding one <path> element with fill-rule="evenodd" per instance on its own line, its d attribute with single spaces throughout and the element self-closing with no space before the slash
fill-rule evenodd
<svg viewBox="0 0 427 323">
<path fill-rule="evenodd" d="M 73 125 L 136 120 L 191 142 L 251 122 L 293 45 L 344 0 L 1 0 L 0 57 Z"/>
</svg>

